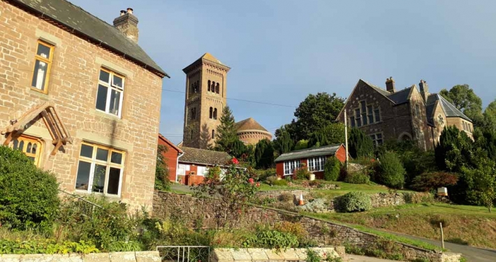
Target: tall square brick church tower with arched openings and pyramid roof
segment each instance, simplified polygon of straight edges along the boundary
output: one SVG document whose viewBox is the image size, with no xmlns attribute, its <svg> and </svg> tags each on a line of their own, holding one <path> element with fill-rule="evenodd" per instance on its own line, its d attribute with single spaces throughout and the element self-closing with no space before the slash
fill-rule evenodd
<svg viewBox="0 0 496 262">
<path fill-rule="evenodd" d="M 209 53 L 182 69 L 186 73 L 184 147 L 205 149 L 212 145 L 226 106 L 226 77 L 230 69 Z"/>
</svg>

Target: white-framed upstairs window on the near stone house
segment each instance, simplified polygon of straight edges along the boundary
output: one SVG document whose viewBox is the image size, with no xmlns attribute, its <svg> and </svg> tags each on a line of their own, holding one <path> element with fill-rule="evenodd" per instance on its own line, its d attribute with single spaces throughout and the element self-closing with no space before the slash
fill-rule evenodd
<svg viewBox="0 0 496 262">
<path fill-rule="evenodd" d="M 96 94 L 96 109 L 121 117 L 123 95 L 124 76 L 101 68 L 98 93 Z"/>
</svg>

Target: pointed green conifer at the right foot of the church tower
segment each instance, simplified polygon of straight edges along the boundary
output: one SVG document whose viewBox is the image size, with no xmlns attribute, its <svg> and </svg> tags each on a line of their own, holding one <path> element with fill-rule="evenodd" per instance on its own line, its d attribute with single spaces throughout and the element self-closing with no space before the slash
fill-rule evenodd
<svg viewBox="0 0 496 262">
<path fill-rule="evenodd" d="M 226 105 L 222 110 L 221 124 L 217 126 L 217 138 L 215 140 L 214 150 L 223 151 L 231 154 L 235 140 L 238 140 L 236 135 L 234 116 L 231 109 Z"/>
</svg>

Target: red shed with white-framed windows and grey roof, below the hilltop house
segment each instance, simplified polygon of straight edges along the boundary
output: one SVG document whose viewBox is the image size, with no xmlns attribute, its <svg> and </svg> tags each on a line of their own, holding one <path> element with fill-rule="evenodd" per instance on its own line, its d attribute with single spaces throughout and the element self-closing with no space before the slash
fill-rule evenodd
<svg viewBox="0 0 496 262">
<path fill-rule="evenodd" d="M 346 148 L 342 144 L 312 147 L 281 154 L 275 159 L 277 177 L 294 175 L 295 170 L 307 168 L 317 179 L 323 179 L 324 165 L 329 157 L 346 161 Z"/>
</svg>

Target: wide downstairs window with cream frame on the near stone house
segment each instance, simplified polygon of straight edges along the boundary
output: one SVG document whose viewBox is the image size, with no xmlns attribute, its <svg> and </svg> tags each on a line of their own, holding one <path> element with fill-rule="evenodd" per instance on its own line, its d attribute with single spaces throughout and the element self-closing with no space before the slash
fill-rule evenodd
<svg viewBox="0 0 496 262">
<path fill-rule="evenodd" d="M 124 152 L 82 143 L 75 189 L 120 196 L 123 170 Z"/>
</svg>

